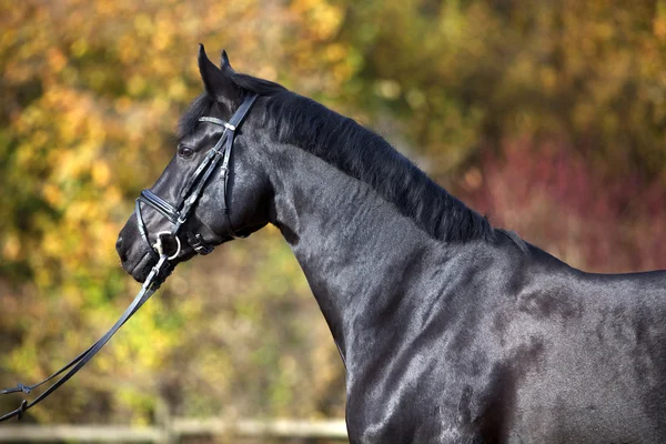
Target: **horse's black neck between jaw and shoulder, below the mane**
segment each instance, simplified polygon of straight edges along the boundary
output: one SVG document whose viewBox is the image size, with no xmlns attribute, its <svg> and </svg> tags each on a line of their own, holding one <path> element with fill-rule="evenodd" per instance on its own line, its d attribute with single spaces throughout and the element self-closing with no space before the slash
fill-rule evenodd
<svg viewBox="0 0 666 444">
<path fill-rule="evenodd" d="M 344 356 L 359 314 L 400 291 L 411 263 L 441 243 L 367 184 L 313 154 L 283 147 L 270 164 L 272 223 L 291 245 Z"/>
</svg>

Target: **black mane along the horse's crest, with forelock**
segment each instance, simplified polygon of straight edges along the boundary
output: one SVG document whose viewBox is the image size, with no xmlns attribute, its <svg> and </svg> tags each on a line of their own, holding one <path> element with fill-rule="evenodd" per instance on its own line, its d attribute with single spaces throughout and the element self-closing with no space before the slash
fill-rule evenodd
<svg viewBox="0 0 666 444">
<path fill-rule="evenodd" d="M 444 242 L 494 240 L 488 220 L 437 185 L 379 134 L 282 85 L 235 73 L 234 83 L 266 97 L 278 139 L 294 144 L 367 183 L 423 231 Z M 195 129 L 212 107 L 202 94 L 181 118 L 179 133 Z"/>
</svg>

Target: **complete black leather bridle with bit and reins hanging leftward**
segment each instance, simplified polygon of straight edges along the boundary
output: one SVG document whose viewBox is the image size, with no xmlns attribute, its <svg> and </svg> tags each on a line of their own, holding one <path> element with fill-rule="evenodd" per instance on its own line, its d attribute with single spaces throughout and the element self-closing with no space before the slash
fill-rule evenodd
<svg viewBox="0 0 666 444">
<path fill-rule="evenodd" d="M 226 216 L 228 234 L 234 239 L 245 238 L 242 235 L 238 235 L 234 232 L 231 225 L 231 218 L 229 215 L 229 206 L 226 202 L 226 193 L 229 191 L 229 162 L 231 159 L 231 149 L 233 148 L 235 132 L 248 115 L 248 113 L 250 112 L 250 109 L 254 104 L 256 98 L 256 94 L 248 95 L 229 122 L 211 117 L 203 117 L 199 119 L 200 122 L 209 122 L 223 127 L 224 132 L 220 137 L 218 143 L 215 143 L 215 145 L 208 152 L 201 164 L 196 168 L 196 170 L 188 181 L 185 188 L 183 189 L 183 192 L 181 193 L 178 204 L 175 206 L 172 206 L 169 202 L 164 201 L 150 190 L 143 190 L 139 199 L 137 199 L 134 211 L 137 213 L 137 223 L 139 226 L 139 232 L 143 241 L 148 243 L 151 254 L 158 259 L 157 264 L 151 269 L 150 273 L 145 278 L 145 281 L 141 286 L 141 290 L 139 291 L 139 294 L 137 294 L 130 306 L 128 306 L 128 309 L 115 322 L 115 324 L 113 324 L 113 326 L 102 337 L 100 337 L 87 351 L 74 357 L 69 364 L 64 365 L 58 372 L 53 373 L 51 376 L 34 385 L 17 384 L 16 387 L 1 390 L 0 395 L 18 392 L 28 394 L 32 390 L 46 384 L 47 382 L 62 374 L 64 371 L 69 370 L 69 372 L 67 372 L 62 377 L 60 377 L 52 385 L 50 385 L 49 389 L 47 389 L 32 402 L 29 403 L 27 400 L 23 400 L 21 402 L 21 405 L 17 410 L 13 410 L 3 416 L 0 416 L 0 422 L 10 420 L 14 416 L 17 416 L 20 420 L 27 410 L 39 404 L 47 396 L 53 393 L 58 387 L 64 384 L 69 379 L 71 379 L 75 373 L 78 373 L 79 370 L 81 370 L 83 365 L 85 365 L 104 346 L 104 344 L 109 342 L 109 340 L 115 334 L 115 332 L 130 317 L 132 317 L 132 315 L 145 303 L 145 301 L 148 301 L 150 296 L 153 295 L 153 293 L 160 287 L 160 285 L 173 271 L 173 264 L 171 263 L 171 261 L 178 259 L 181 252 L 181 241 L 179 239 L 181 230 L 184 229 L 186 241 L 196 253 L 209 254 L 211 251 L 213 251 L 213 245 L 210 245 L 206 242 L 204 242 L 201 234 L 193 233 L 185 226 L 185 224 L 192 213 L 194 205 L 199 201 L 199 198 L 201 196 L 209 179 L 218 169 L 218 167 L 222 171 L 222 212 Z M 141 215 L 141 203 L 145 203 L 152 209 L 157 210 L 173 225 L 171 231 L 159 232 L 157 234 L 154 244 L 150 243 L 148 236 L 148 230 Z M 172 254 L 169 254 L 164 251 L 164 240 L 167 238 L 175 240 L 176 250 Z"/>
</svg>

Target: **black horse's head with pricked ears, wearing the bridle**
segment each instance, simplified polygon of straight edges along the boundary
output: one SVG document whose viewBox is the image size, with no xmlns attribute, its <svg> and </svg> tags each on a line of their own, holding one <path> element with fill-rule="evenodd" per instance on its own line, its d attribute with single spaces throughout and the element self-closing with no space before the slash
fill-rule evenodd
<svg viewBox="0 0 666 444">
<path fill-rule="evenodd" d="M 246 77 L 231 68 L 224 51 L 218 68 L 200 46 L 199 70 L 205 92 L 181 118 L 175 154 L 141 193 L 117 242 L 123 269 L 140 282 L 159 259 L 159 240 L 175 265 L 269 222 L 268 140 L 258 131 L 262 100 L 242 87 Z"/>
</svg>

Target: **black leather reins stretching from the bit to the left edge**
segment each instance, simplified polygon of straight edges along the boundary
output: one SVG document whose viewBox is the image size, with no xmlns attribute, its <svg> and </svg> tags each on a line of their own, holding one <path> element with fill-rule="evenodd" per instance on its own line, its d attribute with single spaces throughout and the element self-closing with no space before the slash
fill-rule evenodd
<svg viewBox="0 0 666 444">
<path fill-rule="evenodd" d="M 161 248 L 161 239 L 158 240 L 158 244 L 159 244 L 158 250 L 161 250 L 162 249 Z M 132 315 L 134 313 L 137 313 L 137 310 L 139 310 L 145 303 L 145 301 L 148 301 L 150 299 L 150 296 L 153 295 L 153 293 L 160 287 L 162 282 L 164 282 L 164 280 L 169 276 L 172 269 L 168 262 L 168 259 L 169 259 L 168 254 L 165 254 L 164 252 L 160 253 L 160 260 L 158 261 L 155 266 L 153 266 L 152 270 L 150 271 L 148 278 L 143 282 L 143 285 L 141 286 L 141 290 L 139 291 L 139 293 L 137 294 L 137 296 L 134 297 L 134 300 L 132 301 L 130 306 L 128 306 L 128 309 L 120 316 L 120 319 L 115 322 L 115 324 L 113 324 L 113 326 L 102 337 L 100 337 L 94 344 L 92 344 L 87 351 L 84 351 L 83 353 L 81 353 L 80 355 L 74 357 L 69 364 L 67 364 L 65 366 L 63 366 L 58 372 L 53 373 L 51 376 L 47 377 L 39 384 L 34 384 L 34 385 L 17 384 L 17 386 L 13 389 L 7 389 L 7 390 L 0 391 L 0 395 L 8 394 L 8 393 L 17 393 L 17 392 L 23 392 L 23 393 L 28 394 L 28 393 L 30 393 L 30 391 L 46 384 L 47 382 L 53 380 L 54 377 L 62 374 L 65 370 L 69 369 L 69 372 L 67 372 L 64 374 L 64 376 L 62 376 L 61 379 L 56 381 L 51 386 L 49 386 L 49 389 L 47 389 L 43 393 L 41 393 L 32 402 L 29 403 L 27 400 L 23 400 L 21 402 L 21 405 L 17 410 L 11 411 L 3 416 L 0 416 L 0 422 L 10 420 L 14 416 L 17 416 L 20 420 L 23 416 L 23 413 L 26 413 L 26 411 L 36 406 L 37 404 L 42 402 L 44 398 L 47 398 L 51 393 L 53 393 L 56 390 L 58 390 L 58 387 L 60 387 L 62 384 L 64 384 L 67 381 L 69 381 L 74 374 L 77 374 L 79 372 L 79 370 L 81 370 L 83 367 L 83 365 L 85 365 L 90 360 L 92 360 L 92 357 L 104 346 L 104 344 L 107 344 L 107 342 L 109 342 L 109 340 L 115 334 L 115 332 L 118 332 L 118 330 L 125 322 L 128 322 L 128 320 L 130 317 L 132 317 Z"/>
</svg>

